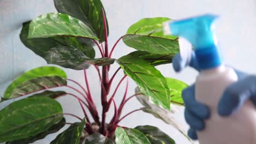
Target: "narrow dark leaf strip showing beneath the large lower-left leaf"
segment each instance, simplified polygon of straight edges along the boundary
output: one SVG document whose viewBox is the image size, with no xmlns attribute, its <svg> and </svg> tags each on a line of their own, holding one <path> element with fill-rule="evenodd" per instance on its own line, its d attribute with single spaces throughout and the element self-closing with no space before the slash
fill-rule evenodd
<svg viewBox="0 0 256 144">
<path fill-rule="evenodd" d="M 49 135 L 49 134 L 56 133 L 62 127 L 64 127 L 65 124 L 66 124 L 66 120 L 65 120 L 65 118 L 62 118 L 62 120 L 59 123 L 54 124 L 48 130 L 44 131 L 43 133 L 40 133 L 36 136 L 28 137 L 27 139 L 20 139 L 20 140 L 7 142 L 6 144 L 21 144 L 21 143 L 22 144 L 28 144 L 28 143 L 33 143 L 34 141 L 44 139 L 44 137 Z"/>
</svg>

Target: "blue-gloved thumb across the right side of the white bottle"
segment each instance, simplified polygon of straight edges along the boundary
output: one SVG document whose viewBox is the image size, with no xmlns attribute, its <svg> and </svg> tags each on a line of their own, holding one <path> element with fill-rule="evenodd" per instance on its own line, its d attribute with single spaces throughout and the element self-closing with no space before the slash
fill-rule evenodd
<svg viewBox="0 0 256 144">
<path fill-rule="evenodd" d="M 230 116 L 235 113 L 245 101 L 251 98 L 256 101 L 256 76 L 247 76 L 246 78 L 232 83 L 225 89 L 222 98 L 219 101 L 218 113 L 220 116 Z"/>
</svg>

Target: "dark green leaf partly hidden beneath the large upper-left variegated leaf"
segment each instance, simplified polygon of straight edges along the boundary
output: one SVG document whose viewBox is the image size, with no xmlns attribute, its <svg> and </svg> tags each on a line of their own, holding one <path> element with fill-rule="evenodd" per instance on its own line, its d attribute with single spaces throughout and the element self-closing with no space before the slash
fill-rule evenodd
<svg viewBox="0 0 256 144">
<path fill-rule="evenodd" d="M 83 41 L 81 40 L 82 38 L 56 36 L 56 37 L 50 37 L 50 38 L 28 39 L 27 37 L 28 37 L 29 26 L 30 26 L 30 21 L 23 23 L 23 27 L 20 33 L 20 39 L 22 43 L 26 47 L 28 47 L 28 49 L 31 49 L 34 53 L 36 53 L 40 57 L 44 57 L 46 52 L 48 52 L 51 48 L 59 45 L 67 46 L 69 47 L 69 49 L 78 49 L 90 58 L 95 57 L 95 51 L 92 45 L 83 43 Z"/>
</svg>

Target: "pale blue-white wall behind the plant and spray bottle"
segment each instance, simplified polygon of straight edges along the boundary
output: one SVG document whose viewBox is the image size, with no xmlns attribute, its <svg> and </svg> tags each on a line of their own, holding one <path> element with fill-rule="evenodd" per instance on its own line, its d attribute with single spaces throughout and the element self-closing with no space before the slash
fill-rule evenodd
<svg viewBox="0 0 256 144">
<path fill-rule="evenodd" d="M 225 62 L 233 67 L 256 73 L 255 53 L 256 53 L 256 2 L 253 0 L 102 0 L 106 9 L 109 22 L 109 46 L 124 35 L 127 28 L 132 23 L 144 17 L 170 17 L 171 19 L 181 19 L 198 14 L 213 13 L 221 16 L 219 20 L 217 35 L 219 45 L 222 48 Z M 27 49 L 19 39 L 22 22 L 33 19 L 34 17 L 56 11 L 53 0 L 0 0 L 0 95 L 3 95 L 5 88 L 17 76 L 27 70 L 46 65 L 43 58 L 35 55 Z M 121 41 L 116 51 L 113 53 L 114 58 L 119 58 L 134 49 L 127 47 Z M 96 49 L 96 52 L 97 49 Z M 117 64 L 112 66 L 112 71 L 118 68 Z M 163 75 L 174 77 L 189 84 L 193 83 L 197 72 L 193 69 L 186 69 L 181 74 L 175 74 L 172 65 L 161 65 L 157 67 Z M 83 71 L 64 69 L 69 79 L 75 79 L 84 85 Z M 100 89 L 98 77 L 94 68 L 88 70 L 91 92 L 99 111 Z M 123 73 L 118 74 L 117 82 L 121 79 Z M 125 82 L 124 82 L 125 83 Z M 73 83 L 69 83 L 73 85 Z M 117 92 L 115 100 L 117 103 L 121 100 L 124 93 L 125 85 Z M 130 79 L 129 95 L 134 93 L 135 83 Z M 67 91 L 70 91 L 67 89 Z M 112 89 L 113 91 L 113 89 Z M 74 112 L 83 116 L 77 101 L 69 96 L 60 98 L 63 105 L 63 111 Z M 3 105 L 2 105 L 3 107 Z M 124 113 L 141 107 L 136 99 L 130 101 L 125 107 Z M 112 107 L 113 108 L 113 107 Z M 108 112 L 107 119 L 113 114 L 113 109 Z M 183 117 L 183 108 L 175 115 L 175 118 L 187 129 Z M 74 122 L 76 119 L 67 117 L 67 122 Z M 127 117 L 120 123 L 126 127 L 136 127 L 137 125 L 155 125 L 168 135 L 173 137 L 178 144 L 189 143 L 176 129 L 165 124 L 153 116 L 137 112 Z M 63 130 L 63 129 L 62 129 Z M 46 139 L 35 143 L 49 143 L 55 135 L 50 135 Z"/>
</svg>

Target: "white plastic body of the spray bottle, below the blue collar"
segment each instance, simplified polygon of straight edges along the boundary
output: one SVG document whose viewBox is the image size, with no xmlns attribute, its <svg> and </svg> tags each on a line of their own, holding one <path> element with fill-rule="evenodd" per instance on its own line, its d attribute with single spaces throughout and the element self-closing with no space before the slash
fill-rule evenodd
<svg viewBox="0 0 256 144">
<path fill-rule="evenodd" d="M 200 144 L 255 144 L 256 110 L 251 101 L 229 117 L 218 115 L 218 103 L 224 90 L 237 81 L 231 68 L 220 65 L 217 68 L 201 71 L 195 83 L 196 100 L 206 104 L 211 117 L 206 120 L 203 131 L 197 131 Z"/>
</svg>

